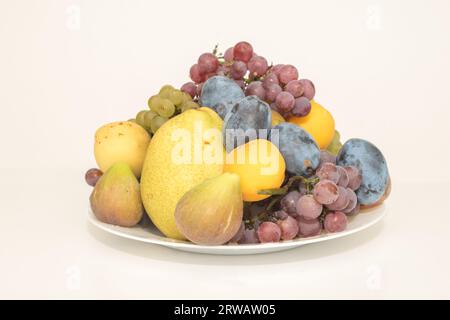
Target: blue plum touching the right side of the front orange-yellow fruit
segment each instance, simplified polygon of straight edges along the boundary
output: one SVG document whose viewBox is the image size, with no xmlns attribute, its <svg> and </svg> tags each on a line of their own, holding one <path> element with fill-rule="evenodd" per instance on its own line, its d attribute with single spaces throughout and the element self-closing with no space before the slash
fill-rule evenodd
<svg viewBox="0 0 450 320">
<path fill-rule="evenodd" d="M 278 145 L 275 134 L 278 134 Z M 319 166 L 319 147 L 311 135 L 299 126 L 288 122 L 280 123 L 272 128 L 270 139 L 278 146 L 289 173 L 309 176 Z"/>
</svg>

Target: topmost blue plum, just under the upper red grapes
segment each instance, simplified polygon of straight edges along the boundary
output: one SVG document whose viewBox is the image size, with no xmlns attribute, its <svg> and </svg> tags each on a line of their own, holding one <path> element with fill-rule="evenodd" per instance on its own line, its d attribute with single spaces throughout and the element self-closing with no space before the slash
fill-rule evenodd
<svg viewBox="0 0 450 320">
<path fill-rule="evenodd" d="M 244 97 L 244 91 L 235 81 L 215 76 L 204 83 L 199 103 L 213 109 L 224 119 L 233 105 Z"/>
</svg>

